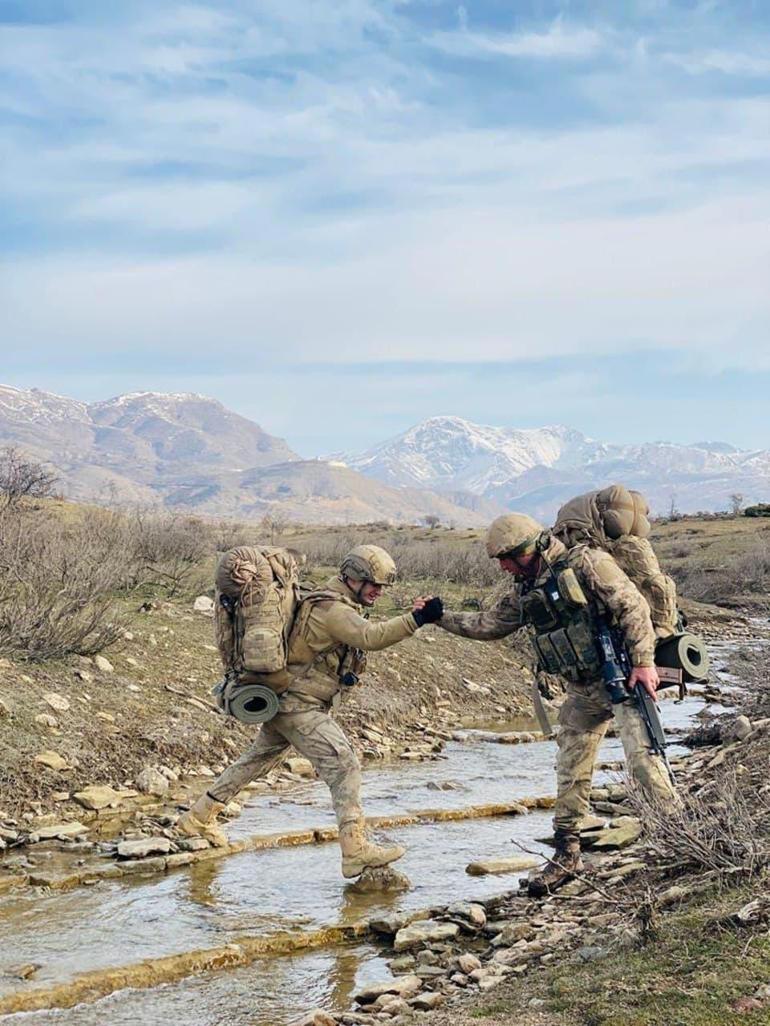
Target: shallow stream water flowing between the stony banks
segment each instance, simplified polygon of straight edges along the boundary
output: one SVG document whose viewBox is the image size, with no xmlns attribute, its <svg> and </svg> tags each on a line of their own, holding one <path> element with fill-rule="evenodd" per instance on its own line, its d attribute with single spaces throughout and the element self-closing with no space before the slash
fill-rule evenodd
<svg viewBox="0 0 770 1026">
<path fill-rule="evenodd" d="M 662 703 L 669 733 L 687 728 L 702 708 L 699 699 Z M 488 724 L 497 732 L 506 724 Z M 510 724 L 507 724 L 508 728 Z M 521 723 L 515 724 L 521 728 Z M 364 774 L 370 816 L 426 807 L 460 808 L 546 795 L 553 790 L 554 743 L 490 744 L 487 732 L 467 729 L 435 761 L 398 762 Z M 680 749 L 681 750 L 681 749 Z M 676 754 L 676 745 L 671 748 Z M 608 739 L 601 758 L 622 757 Z M 598 774 L 596 781 L 607 775 Z M 612 776 L 612 775 L 611 775 Z M 452 789 L 438 789 L 441 785 Z M 144 958 L 213 948 L 239 936 L 350 924 L 380 912 L 425 909 L 458 899 L 480 899 L 515 885 L 515 876 L 472 877 L 466 865 L 479 858 L 518 854 L 512 840 L 545 852 L 550 815 L 469 819 L 391 828 L 403 843 L 399 862 L 412 889 L 398 895 L 353 895 L 339 873 L 334 843 L 246 852 L 201 862 L 168 875 L 137 881 L 100 882 L 70 893 L 42 896 L 28 891 L 2 899 L 0 995 L 72 980 L 88 970 Z M 249 802 L 229 830 L 233 838 L 333 823 L 323 786 L 307 784 L 291 796 Z M 40 963 L 34 980 L 3 972 Z M 349 1007 L 365 980 L 387 977 L 370 944 L 261 958 L 247 968 L 208 972 L 151 990 L 123 990 L 74 1009 L 25 1013 L 7 1021 L 62 1026 L 285 1026 L 309 1009 Z"/>
</svg>

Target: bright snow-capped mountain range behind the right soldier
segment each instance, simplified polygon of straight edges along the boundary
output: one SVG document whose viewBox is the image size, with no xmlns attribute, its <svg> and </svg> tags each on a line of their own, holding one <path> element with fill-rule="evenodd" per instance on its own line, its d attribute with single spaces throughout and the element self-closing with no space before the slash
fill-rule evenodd
<svg viewBox="0 0 770 1026">
<path fill-rule="evenodd" d="M 497 428 L 433 417 L 347 459 L 361 473 L 398 486 L 462 488 L 544 519 L 572 496 L 622 481 L 653 512 L 727 509 L 730 496 L 770 498 L 770 451 L 725 442 L 620 445 L 563 426 Z"/>
</svg>

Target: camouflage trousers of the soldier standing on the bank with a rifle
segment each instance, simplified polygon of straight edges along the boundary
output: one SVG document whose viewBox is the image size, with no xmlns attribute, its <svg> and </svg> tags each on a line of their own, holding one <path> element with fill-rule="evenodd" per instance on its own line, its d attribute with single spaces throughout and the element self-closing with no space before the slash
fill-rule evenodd
<svg viewBox="0 0 770 1026">
<path fill-rule="evenodd" d="M 653 755 L 642 716 L 631 702 L 613 706 L 604 681 L 567 685 L 559 711 L 556 802 L 553 826 L 568 832 L 579 828 L 588 812 L 596 752 L 614 718 L 625 752 L 628 776 L 652 797 L 676 801 L 663 760 Z"/>
</svg>

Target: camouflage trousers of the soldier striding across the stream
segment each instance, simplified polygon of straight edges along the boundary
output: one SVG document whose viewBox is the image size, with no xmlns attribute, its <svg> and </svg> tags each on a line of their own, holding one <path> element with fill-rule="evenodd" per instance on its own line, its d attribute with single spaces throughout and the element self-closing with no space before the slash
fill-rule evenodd
<svg viewBox="0 0 770 1026">
<path fill-rule="evenodd" d="M 358 820 L 363 815 L 360 764 L 342 727 L 321 708 L 279 712 L 263 723 L 254 744 L 217 778 L 208 794 L 228 802 L 246 784 L 266 776 L 291 747 L 329 786 L 338 824 Z"/>
</svg>

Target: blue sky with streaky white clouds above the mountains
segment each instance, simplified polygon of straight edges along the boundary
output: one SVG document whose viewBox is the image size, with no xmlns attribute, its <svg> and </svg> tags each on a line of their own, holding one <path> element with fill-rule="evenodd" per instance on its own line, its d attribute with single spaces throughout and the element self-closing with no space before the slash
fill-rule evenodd
<svg viewBox="0 0 770 1026">
<path fill-rule="evenodd" d="M 765 0 L 0 0 L 0 381 L 770 445 Z"/>
</svg>

